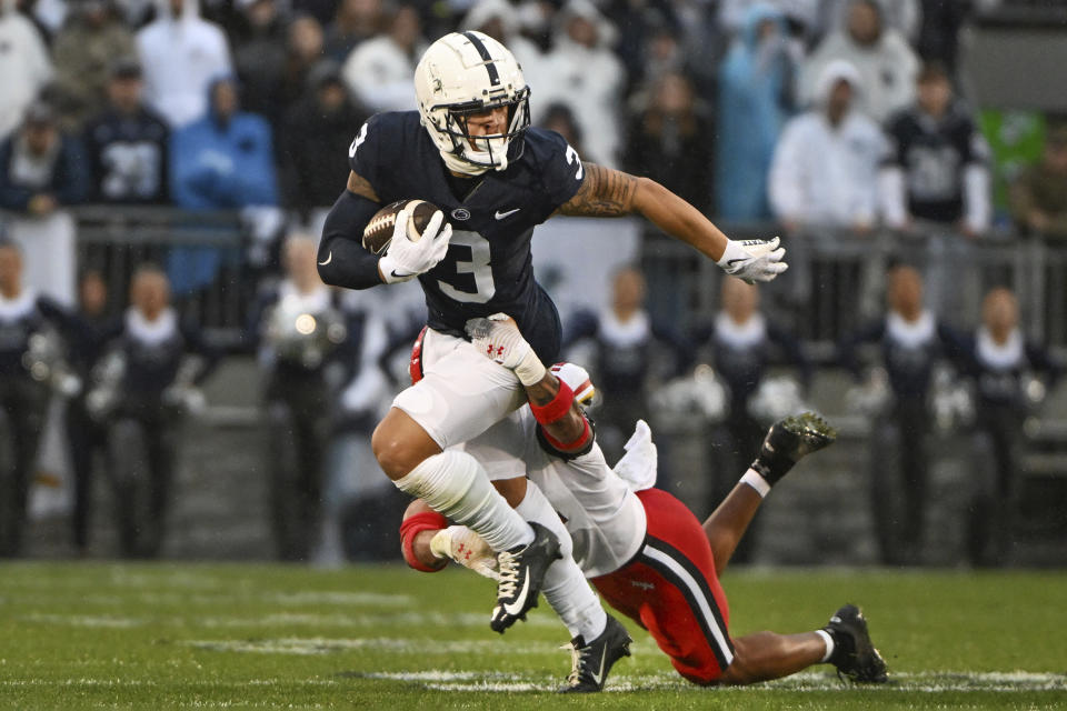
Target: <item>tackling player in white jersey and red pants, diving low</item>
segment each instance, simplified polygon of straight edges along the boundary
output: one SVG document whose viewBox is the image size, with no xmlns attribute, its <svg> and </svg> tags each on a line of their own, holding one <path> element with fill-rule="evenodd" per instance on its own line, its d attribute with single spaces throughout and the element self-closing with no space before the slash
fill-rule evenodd
<svg viewBox="0 0 1067 711">
<path fill-rule="evenodd" d="M 510 320 L 480 319 L 470 330 L 475 344 L 505 367 L 531 358 L 532 349 Z M 590 390 L 588 375 L 576 365 L 546 372 L 527 388 L 530 409 L 523 410 L 525 429 L 512 433 L 511 442 L 497 444 L 525 459 L 529 485 L 544 489 L 566 520 L 575 558 L 586 574 L 614 608 L 651 633 L 682 677 L 698 684 L 748 684 L 830 662 L 856 682 L 887 680 L 885 661 L 855 605 L 842 607 L 815 632 L 730 638 L 727 631 L 729 613 L 719 573 L 770 487 L 799 459 L 831 443 L 831 428 L 810 413 L 776 423 L 751 468 L 701 527 L 678 499 L 651 488 L 656 454 L 644 422 L 627 444 L 627 455 L 614 471 L 608 468 L 591 443 L 588 420 L 576 407 L 575 393 Z M 576 433 L 590 438 L 585 453 L 575 457 L 554 447 Z M 413 502 L 406 521 L 421 515 L 421 502 Z M 409 563 L 413 558 L 413 567 L 426 570 L 452 558 L 487 574 L 491 560 L 479 552 L 485 549 L 477 538 L 462 527 L 443 528 L 443 519 L 439 524 L 439 530 L 423 528 L 417 534 L 401 528 Z M 611 663 L 627 653 L 605 650 L 606 663 L 597 665 L 584 663 L 576 652 L 572 682 L 599 691 Z"/>
</svg>

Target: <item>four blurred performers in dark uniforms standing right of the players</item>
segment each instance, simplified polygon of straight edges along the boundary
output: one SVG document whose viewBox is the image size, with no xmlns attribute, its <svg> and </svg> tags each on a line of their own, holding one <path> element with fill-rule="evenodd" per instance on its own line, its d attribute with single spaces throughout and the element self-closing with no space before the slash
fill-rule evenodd
<svg viewBox="0 0 1067 711">
<path fill-rule="evenodd" d="M 840 369 L 855 382 L 841 413 L 869 425 L 866 481 L 880 562 L 928 559 L 935 442 L 944 447 L 951 435 L 967 441 L 966 477 L 954 494 L 965 511 L 955 522 L 963 554 L 974 565 L 1009 563 L 1026 474 L 1024 425 L 1056 387 L 1064 363 L 1024 334 L 1018 300 L 1007 288 L 990 289 L 977 328 L 963 328 L 927 304 L 915 267 L 895 264 L 885 281 L 882 314 L 815 359 L 762 312 L 755 286 L 725 278 L 715 317 L 679 333 L 647 310 L 640 271 L 621 269 L 610 306 L 574 314 L 565 332 L 569 357 L 594 373 L 597 439 L 608 460 L 622 454 L 634 422 L 648 420 L 661 454 L 657 485 L 669 489 L 686 478 L 670 470 L 670 433 L 691 437 L 705 449 L 688 465 L 701 471 L 706 484 L 705 500 L 691 505 L 712 511 L 749 465 L 768 425 L 810 408 L 815 367 Z M 746 535 L 757 543 L 758 522 Z M 746 543 L 735 558 L 751 560 L 754 547 Z"/>
</svg>

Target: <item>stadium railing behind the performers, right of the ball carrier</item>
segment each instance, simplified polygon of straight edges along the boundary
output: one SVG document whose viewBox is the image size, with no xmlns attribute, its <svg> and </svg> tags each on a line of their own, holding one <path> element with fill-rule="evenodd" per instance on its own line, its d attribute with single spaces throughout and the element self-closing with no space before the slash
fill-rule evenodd
<svg viewBox="0 0 1067 711">
<path fill-rule="evenodd" d="M 780 233 L 772 223 L 721 226 L 737 239 Z M 1026 334 L 1067 354 L 1067 244 L 1000 231 L 977 239 L 933 226 L 907 233 L 807 228 L 784 234 L 788 278 L 762 287 L 768 311 L 792 329 L 812 357 L 869 319 L 885 313 L 885 278 L 893 264 L 925 274 L 926 302 L 958 328 L 978 324 L 981 300 L 994 287 L 1019 299 Z M 648 231 L 641 266 L 650 308 L 681 328 L 714 318 L 722 272 L 692 249 Z"/>
</svg>

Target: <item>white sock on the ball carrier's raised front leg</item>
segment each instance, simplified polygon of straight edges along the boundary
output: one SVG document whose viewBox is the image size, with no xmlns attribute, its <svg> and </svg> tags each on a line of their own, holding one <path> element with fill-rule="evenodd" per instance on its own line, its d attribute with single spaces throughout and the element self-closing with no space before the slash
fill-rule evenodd
<svg viewBox="0 0 1067 711">
<path fill-rule="evenodd" d="M 467 452 L 447 450 L 428 457 L 393 483 L 453 522 L 469 527 L 495 551 L 534 540 L 534 529 L 497 493 L 486 470 Z"/>
</svg>

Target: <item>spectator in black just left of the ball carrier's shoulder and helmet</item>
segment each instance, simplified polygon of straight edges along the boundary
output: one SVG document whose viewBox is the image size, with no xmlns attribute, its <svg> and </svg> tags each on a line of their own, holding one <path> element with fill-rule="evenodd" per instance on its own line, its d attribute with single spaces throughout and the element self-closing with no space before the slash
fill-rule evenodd
<svg viewBox="0 0 1067 711">
<path fill-rule="evenodd" d="M 348 146 L 367 111 L 356 104 L 340 68 L 322 60 L 308 78 L 305 98 L 286 114 L 281 132 L 281 176 L 285 202 L 307 221 L 316 208 L 337 200 L 337 186 L 347 179 Z"/>
</svg>

